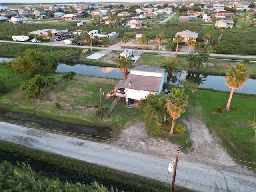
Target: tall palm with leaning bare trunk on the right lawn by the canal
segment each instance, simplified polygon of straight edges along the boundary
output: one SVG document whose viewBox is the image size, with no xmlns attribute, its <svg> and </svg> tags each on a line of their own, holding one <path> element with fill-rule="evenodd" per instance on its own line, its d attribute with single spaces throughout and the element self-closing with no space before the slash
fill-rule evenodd
<svg viewBox="0 0 256 192">
<path fill-rule="evenodd" d="M 226 110 L 229 110 L 230 102 L 234 93 L 235 89 L 242 88 L 246 81 L 248 80 L 249 76 L 246 72 L 245 65 L 239 63 L 236 67 L 232 67 L 228 69 L 225 81 L 228 88 L 231 88 L 230 96 L 228 98 L 228 103 L 226 105 Z"/>
</svg>

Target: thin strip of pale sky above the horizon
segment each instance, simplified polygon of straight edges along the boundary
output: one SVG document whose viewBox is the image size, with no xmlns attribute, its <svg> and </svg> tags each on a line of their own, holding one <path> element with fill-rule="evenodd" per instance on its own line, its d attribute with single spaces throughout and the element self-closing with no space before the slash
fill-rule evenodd
<svg viewBox="0 0 256 192">
<path fill-rule="evenodd" d="M 90 4 L 90 3 L 130 3 L 130 2 L 150 2 L 153 0 L 1 0 L 0 3 L 28 3 L 28 4 L 34 4 L 34 3 L 49 3 L 49 4 L 56 4 L 56 3 L 84 3 L 84 4 Z M 156 0 L 155 0 L 156 1 Z"/>
</svg>

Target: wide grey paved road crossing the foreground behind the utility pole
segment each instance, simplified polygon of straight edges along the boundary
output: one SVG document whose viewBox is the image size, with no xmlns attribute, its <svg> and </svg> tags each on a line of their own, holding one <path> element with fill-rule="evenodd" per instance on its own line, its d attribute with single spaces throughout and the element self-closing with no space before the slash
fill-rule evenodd
<svg viewBox="0 0 256 192">
<path fill-rule="evenodd" d="M 125 150 L 107 142 L 91 142 L 66 135 L 0 122 L 0 140 L 52 152 L 118 171 L 140 175 L 171 184 L 168 162 L 160 156 Z M 175 154 L 170 154 L 175 156 Z M 226 172 L 179 160 L 176 185 L 200 192 L 254 192 L 256 175 Z M 247 174 L 246 174 L 247 173 Z"/>
</svg>

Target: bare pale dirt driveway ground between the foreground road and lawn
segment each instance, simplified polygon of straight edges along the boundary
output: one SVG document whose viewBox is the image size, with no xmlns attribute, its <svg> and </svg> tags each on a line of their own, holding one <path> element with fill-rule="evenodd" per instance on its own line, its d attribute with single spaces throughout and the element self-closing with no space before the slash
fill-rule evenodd
<svg viewBox="0 0 256 192">
<path fill-rule="evenodd" d="M 215 170 L 232 170 L 233 172 L 244 172 L 227 154 L 226 149 L 220 145 L 220 141 L 214 134 L 210 134 L 200 108 L 190 107 L 190 117 L 183 120 L 186 131 L 190 133 L 190 140 L 193 142 L 192 150 L 181 148 L 184 152 L 182 161 L 198 164 L 198 166 L 210 166 Z M 120 133 L 118 145 L 129 150 L 153 154 L 162 157 L 170 162 L 174 159 L 179 146 L 161 138 L 148 136 L 144 122 L 138 122 Z"/>
</svg>

